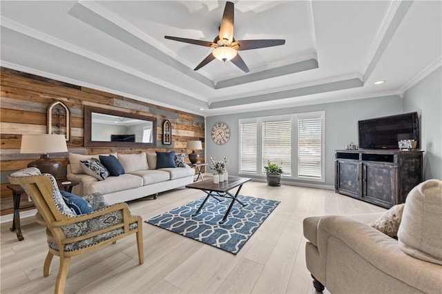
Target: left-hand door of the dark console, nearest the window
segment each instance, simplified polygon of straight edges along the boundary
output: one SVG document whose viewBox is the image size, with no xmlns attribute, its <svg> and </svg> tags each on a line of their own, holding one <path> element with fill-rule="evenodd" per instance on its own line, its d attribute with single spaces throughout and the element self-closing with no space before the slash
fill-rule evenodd
<svg viewBox="0 0 442 294">
<path fill-rule="evenodd" d="M 336 193 L 361 197 L 361 164 L 357 160 L 336 160 Z"/>
</svg>

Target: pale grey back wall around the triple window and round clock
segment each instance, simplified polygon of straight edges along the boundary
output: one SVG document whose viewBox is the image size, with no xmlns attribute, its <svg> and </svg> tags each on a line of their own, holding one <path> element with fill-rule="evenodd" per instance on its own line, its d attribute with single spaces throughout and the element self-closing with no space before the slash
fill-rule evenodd
<svg viewBox="0 0 442 294">
<path fill-rule="evenodd" d="M 210 157 L 222 159 L 224 156 L 227 156 L 229 157 L 229 164 L 227 166 L 229 174 L 238 175 L 238 119 L 286 115 L 319 110 L 325 110 L 325 183 L 302 181 L 296 181 L 296 183 L 313 184 L 312 186 L 332 188 L 334 187 L 334 150 L 345 148 L 345 144 L 348 144 L 350 141 L 353 141 L 354 143 L 358 142 L 358 120 L 403 113 L 403 103 L 401 97 L 394 95 L 330 104 L 207 117 L 206 161 L 209 161 Z M 211 128 L 215 123 L 220 121 L 229 125 L 231 129 L 231 138 L 227 144 L 218 146 L 211 139 Z"/>
</svg>

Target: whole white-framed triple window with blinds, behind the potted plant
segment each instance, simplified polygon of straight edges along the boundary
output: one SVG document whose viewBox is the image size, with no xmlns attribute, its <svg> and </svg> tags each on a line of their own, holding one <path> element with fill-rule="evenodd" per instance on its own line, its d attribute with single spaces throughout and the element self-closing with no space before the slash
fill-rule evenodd
<svg viewBox="0 0 442 294">
<path fill-rule="evenodd" d="M 240 119 L 240 173 L 265 175 L 267 161 L 284 177 L 324 182 L 325 112 Z"/>
</svg>

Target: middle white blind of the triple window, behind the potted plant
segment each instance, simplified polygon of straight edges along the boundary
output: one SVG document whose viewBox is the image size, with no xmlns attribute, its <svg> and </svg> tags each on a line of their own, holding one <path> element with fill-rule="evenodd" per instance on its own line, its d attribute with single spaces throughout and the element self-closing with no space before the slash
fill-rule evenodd
<svg viewBox="0 0 442 294">
<path fill-rule="evenodd" d="M 262 122 L 263 173 L 269 160 L 272 164 L 280 164 L 284 175 L 291 175 L 291 119 Z"/>
</svg>

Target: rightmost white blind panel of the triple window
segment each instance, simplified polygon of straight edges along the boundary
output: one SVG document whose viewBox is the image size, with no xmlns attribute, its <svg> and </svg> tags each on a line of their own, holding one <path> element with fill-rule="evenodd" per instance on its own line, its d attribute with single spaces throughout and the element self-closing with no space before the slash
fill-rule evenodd
<svg viewBox="0 0 442 294">
<path fill-rule="evenodd" d="M 321 117 L 298 119 L 298 177 L 321 178 Z"/>
</svg>

